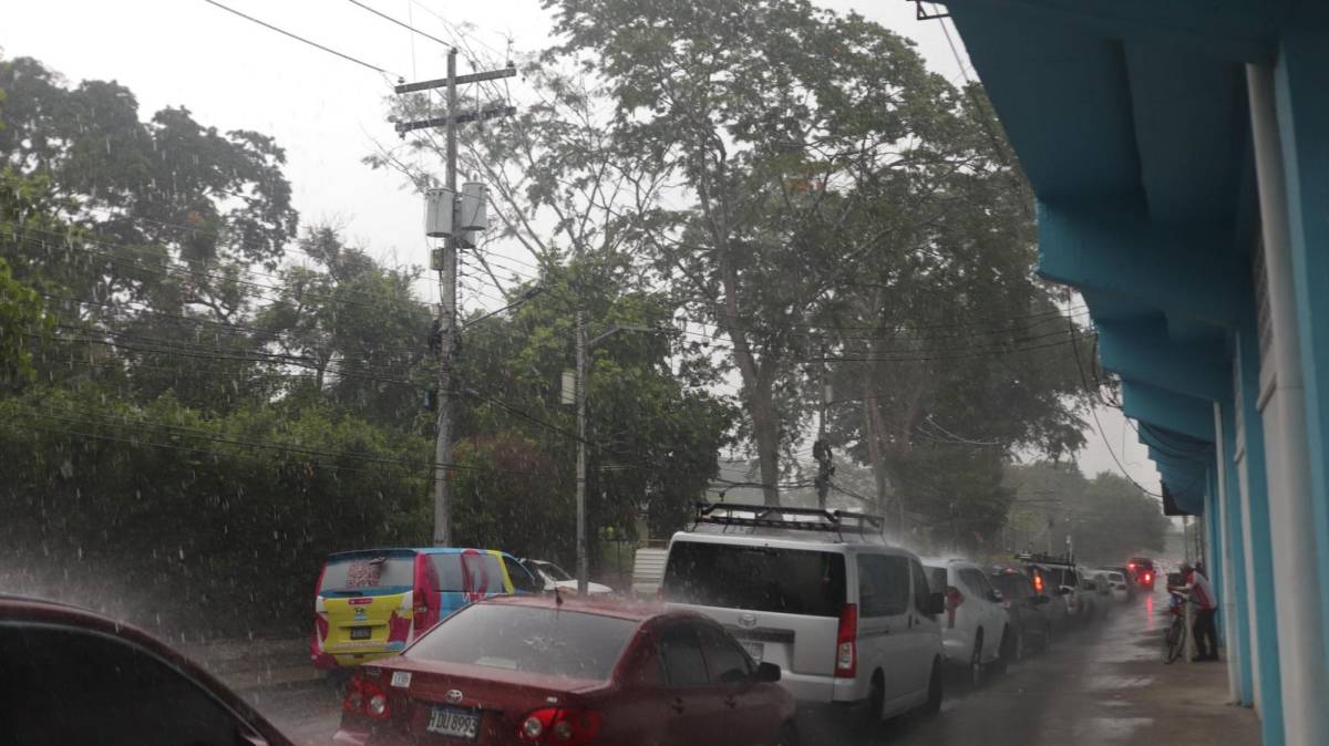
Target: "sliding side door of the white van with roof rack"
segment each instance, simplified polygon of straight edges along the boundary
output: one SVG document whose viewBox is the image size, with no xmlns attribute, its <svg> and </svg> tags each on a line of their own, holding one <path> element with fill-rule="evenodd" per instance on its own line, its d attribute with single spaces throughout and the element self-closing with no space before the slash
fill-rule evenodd
<svg viewBox="0 0 1329 746">
<path fill-rule="evenodd" d="M 860 554 L 859 674 L 882 673 L 882 704 L 888 711 L 909 694 L 913 681 L 910 650 L 909 559 Z"/>
</svg>

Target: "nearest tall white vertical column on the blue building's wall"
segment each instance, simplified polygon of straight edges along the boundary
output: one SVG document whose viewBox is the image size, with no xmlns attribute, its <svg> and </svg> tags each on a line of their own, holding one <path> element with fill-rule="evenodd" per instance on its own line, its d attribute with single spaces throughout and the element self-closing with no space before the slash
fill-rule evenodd
<svg viewBox="0 0 1329 746">
<path fill-rule="evenodd" d="M 1329 743 L 1329 670 L 1321 619 L 1322 573 L 1316 548 L 1310 495 L 1310 451 L 1306 442 L 1306 396 L 1302 388 L 1301 338 L 1289 246 L 1289 203 L 1285 153 L 1275 106 L 1275 73 L 1247 65 L 1251 134 L 1260 187 L 1260 227 L 1272 323 L 1272 385 L 1263 389 L 1265 438 L 1269 442 L 1269 523 L 1275 573 L 1282 580 L 1278 640 L 1282 650 L 1282 711 L 1286 742 Z M 1282 122 L 1286 123 L 1286 122 Z M 1296 163 L 1296 158 L 1292 159 Z M 1306 163 L 1305 167 L 1310 167 Z M 1259 281 L 1259 280 L 1257 280 Z M 1268 373 L 1268 372 L 1265 372 Z"/>
</svg>

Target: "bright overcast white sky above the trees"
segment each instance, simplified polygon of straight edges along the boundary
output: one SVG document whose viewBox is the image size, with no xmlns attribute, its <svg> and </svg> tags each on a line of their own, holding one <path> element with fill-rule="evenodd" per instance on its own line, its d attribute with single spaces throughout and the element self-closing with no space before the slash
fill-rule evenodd
<svg viewBox="0 0 1329 746">
<path fill-rule="evenodd" d="M 280 36 L 205 0 L 11 3 L 0 25 L 0 53 L 36 57 L 70 82 L 117 80 L 138 97 L 145 118 L 163 106 L 185 106 L 205 125 L 272 135 L 286 149 L 286 175 L 302 223 L 336 222 L 381 259 L 428 264 L 419 196 L 404 190 L 396 174 L 371 171 L 360 159 L 375 141 L 396 141 L 384 118 L 384 100 L 396 77 L 441 77 L 445 48 L 350 0 L 219 1 L 389 74 Z M 469 25 L 470 44 L 492 48 L 500 57 L 509 42 L 518 52 L 549 42 L 549 13 L 538 0 L 360 1 L 444 40 L 459 25 Z M 918 21 L 913 3 L 902 0 L 821 4 L 857 11 L 916 40 L 932 69 L 962 81 L 961 65 L 968 61 L 949 21 Z M 1120 413 L 1103 409 L 1099 419 L 1106 438 L 1091 422 L 1080 467 L 1087 474 L 1116 471 L 1115 454 L 1136 481 L 1158 490 L 1156 471 Z"/>
</svg>

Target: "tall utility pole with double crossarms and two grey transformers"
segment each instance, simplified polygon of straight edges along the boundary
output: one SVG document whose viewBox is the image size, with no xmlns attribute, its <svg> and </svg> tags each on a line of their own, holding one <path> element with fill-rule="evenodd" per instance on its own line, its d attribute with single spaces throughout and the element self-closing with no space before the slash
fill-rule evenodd
<svg viewBox="0 0 1329 746">
<path fill-rule="evenodd" d="M 485 80 L 504 78 L 517 74 L 517 69 L 508 64 L 501 70 L 457 76 L 457 48 L 448 49 L 448 77 L 400 84 L 396 93 L 413 93 L 435 88 L 448 89 L 448 110 L 441 118 L 424 119 L 417 122 L 399 122 L 397 134 L 404 135 L 411 130 L 443 126 L 447 133 L 447 163 L 444 166 L 443 195 L 431 195 L 436 200 L 427 211 L 425 235 L 444 239 L 443 250 L 436 251 L 431 258 L 431 264 L 439 271 L 439 319 L 437 337 L 439 345 L 439 393 L 435 397 L 439 408 L 439 421 L 433 442 L 433 546 L 447 547 L 452 544 L 452 506 L 448 500 L 448 487 L 452 470 L 452 421 L 453 421 L 453 373 L 457 357 L 457 247 L 461 230 L 480 230 L 478 223 L 484 222 L 485 204 L 482 187 L 474 190 L 468 196 L 472 203 L 468 206 L 470 216 L 459 216 L 457 200 L 457 125 L 506 117 L 516 113 L 512 106 L 488 108 L 478 112 L 457 112 L 457 86 L 462 84 L 480 82 Z M 445 214 L 443 214 L 445 212 Z M 441 255 L 441 256 L 440 256 Z"/>
</svg>

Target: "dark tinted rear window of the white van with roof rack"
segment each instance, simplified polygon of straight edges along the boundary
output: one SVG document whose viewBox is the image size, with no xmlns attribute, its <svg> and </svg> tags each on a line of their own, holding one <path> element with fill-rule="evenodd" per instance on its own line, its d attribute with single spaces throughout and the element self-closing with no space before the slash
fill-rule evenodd
<svg viewBox="0 0 1329 746">
<path fill-rule="evenodd" d="M 675 542 L 662 585 L 670 601 L 804 616 L 840 616 L 844 555 Z"/>
</svg>

